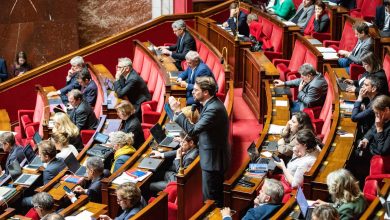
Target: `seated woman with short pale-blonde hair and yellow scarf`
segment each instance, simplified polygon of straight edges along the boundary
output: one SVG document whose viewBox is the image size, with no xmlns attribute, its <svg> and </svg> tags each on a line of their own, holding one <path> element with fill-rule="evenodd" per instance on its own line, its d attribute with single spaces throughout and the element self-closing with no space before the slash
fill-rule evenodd
<svg viewBox="0 0 390 220">
<path fill-rule="evenodd" d="M 123 131 L 116 131 L 109 134 L 108 142 L 115 150 L 111 173 L 117 171 L 136 151 L 133 147 L 133 136 L 132 133 L 126 134 Z"/>
</svg>

